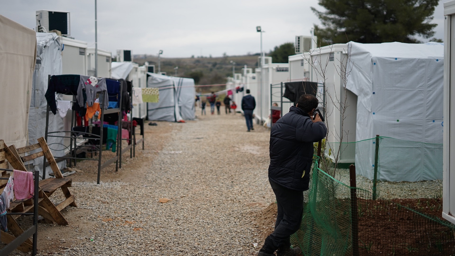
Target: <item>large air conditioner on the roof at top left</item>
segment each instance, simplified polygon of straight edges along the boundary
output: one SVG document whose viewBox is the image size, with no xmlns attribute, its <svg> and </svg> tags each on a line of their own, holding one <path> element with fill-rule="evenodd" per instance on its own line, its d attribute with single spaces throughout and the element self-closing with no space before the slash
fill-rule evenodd
<svg viewBox="0 0 455 256">
<path fill-rule="evenodd" d="M 45 30 L 40 30 L 40 26 Z M 37 10 L 36 32 L 61 31 L 62 36 L 70 36 L 70 12 L 60 10 Z"/>
</svg>

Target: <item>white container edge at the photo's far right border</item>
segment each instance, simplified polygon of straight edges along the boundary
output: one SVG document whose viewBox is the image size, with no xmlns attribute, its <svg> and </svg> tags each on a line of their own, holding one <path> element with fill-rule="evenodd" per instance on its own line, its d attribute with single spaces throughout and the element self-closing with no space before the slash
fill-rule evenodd
<svg viewBox="0 0 455 256">
<path fill-rule="evenodd" d="M 444 3 L 444 154 L 443 154 L 443 192 L 442 217 L 455 224 L 455 1 Z M 454 51 L 452 51 L 452 48 Z M 453 56 L 453 58 L 452 58 Z M 454 87 L 455 88 L 455 87 Z M 451 150 L 450 150 L 451 149 Z"/>
</svg>

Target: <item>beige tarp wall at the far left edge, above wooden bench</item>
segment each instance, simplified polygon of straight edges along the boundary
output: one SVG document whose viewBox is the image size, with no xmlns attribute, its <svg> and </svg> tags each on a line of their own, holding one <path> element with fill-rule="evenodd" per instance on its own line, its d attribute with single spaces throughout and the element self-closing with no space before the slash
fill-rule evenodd
<svg viewBox="0 0 455 256">
<path fill-rule="evenodd" d="M 0 139 L 27 144 L 27 125 L 36 61 L 35 31 L 0 15 Z M 44 95 L 43 95 L 44 96 Z"/>
</svg>

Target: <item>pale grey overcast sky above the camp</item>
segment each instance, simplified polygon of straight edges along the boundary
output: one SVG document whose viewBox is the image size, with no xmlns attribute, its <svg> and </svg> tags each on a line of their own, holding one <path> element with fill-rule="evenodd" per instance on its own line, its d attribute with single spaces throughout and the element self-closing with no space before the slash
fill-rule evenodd
<svg viewBox="0 0 455 256">
<path fill-rule="evenodd" d="M 435 37 L 444 38 L 443 3 L 436 7 Z M 162 57 L 245 55 L 310 35 L 320 24 L 310 7 L 318 0 L 97 0 L 98 48 L 131 49 Z M 71 13 L 71 36 L 95 46 L 94 0 L 0 0 L 0 14 L 35 28 L 36 10 Z"/>
</svg>

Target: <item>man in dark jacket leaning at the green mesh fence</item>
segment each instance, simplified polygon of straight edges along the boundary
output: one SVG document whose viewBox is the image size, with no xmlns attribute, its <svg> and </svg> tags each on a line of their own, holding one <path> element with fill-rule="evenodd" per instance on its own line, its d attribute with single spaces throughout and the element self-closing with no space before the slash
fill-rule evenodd
<svg viewBox="0 0 455 256">
<path fill-rule="evenodd" d="M 296 107 L 280 118 L 270 131 L 268 180 L 278 206 L 275 230 L 264 242 L 259 256 L 297 256 L 301 250 L 290 248 L 289 236 L 302 221 L 303 191 L 308 190 L 313 162 L 313 142 L 326 136 L 327 128 L 318 114 L 313 118 L 318 99 L 304 94 Z"/>
</svg>

